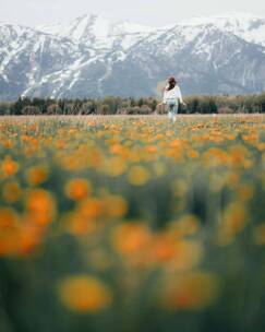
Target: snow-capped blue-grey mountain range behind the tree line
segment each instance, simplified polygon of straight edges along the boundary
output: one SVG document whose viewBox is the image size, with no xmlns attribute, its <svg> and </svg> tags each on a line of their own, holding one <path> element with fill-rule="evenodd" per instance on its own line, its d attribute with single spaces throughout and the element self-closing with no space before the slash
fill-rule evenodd
<svg viewBox="0 0 265 332">
<path fill-rule="evenodd" d="M 84 15 L 69 25 L 0 23 L 0 99 L 146 96 L 168 75 L 184 94 L 265 90 L 265 19 L 193 17 L 154 28 Z"/>
</svg>

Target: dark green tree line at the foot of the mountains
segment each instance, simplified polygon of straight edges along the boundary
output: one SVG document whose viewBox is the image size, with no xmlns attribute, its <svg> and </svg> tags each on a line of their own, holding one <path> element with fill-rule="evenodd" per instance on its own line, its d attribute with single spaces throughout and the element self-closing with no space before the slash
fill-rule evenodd
<svg viewBox="0 0 265 332">
<path fill-rule="evenodd" d="M 189 96 L 180 114 L 261 114 L 265 112 L 265 93 L 256 95 Z M 87 99 L 45 99 L 20 97 L 0 102 L 0 115 L 152 115 L 165 114 L 157 97 L 121 98 L 106 96 Z"/>
</svg>

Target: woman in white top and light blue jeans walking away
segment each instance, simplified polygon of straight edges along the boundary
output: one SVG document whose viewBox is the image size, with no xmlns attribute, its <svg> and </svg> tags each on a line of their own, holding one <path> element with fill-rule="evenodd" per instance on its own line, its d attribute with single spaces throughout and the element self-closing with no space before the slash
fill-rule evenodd
<svg viewBox="0 0 265 332">
<path fill-rule="evenodd" d="M 179 103 L 185 105 L 176 79 L 170 78 L 168 79 L 168 85 L 164 90 L 164 98 L 161 104 L 167 105 L 168 117 L 169 119 L 172 119 L 173 122 L 176 122 Z"/>
</svg>

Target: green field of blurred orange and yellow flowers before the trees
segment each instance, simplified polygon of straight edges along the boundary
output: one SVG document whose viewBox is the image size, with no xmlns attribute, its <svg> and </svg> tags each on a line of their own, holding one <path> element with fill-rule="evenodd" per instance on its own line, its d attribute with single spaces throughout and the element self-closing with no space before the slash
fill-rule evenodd
<svg viewBox="0 0 265 332">
<path fill-rule="evenodd" d="M 265 331 L 265 116 L 0 119 L 0 331 Z"/>
</svg>

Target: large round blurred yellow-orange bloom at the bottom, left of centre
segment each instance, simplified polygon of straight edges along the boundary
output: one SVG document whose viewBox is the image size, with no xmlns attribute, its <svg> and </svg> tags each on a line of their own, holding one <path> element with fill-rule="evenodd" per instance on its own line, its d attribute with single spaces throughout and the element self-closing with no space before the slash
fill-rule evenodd
<svg viewBox="0 0 265 332">
<path fill-rule="evenodd" d="M 89 275 L 69 276 L 59 285 L 62 304 L 79 313 L 96 313 L 112 303 L 112 292 L 98 278 Z"/>
</svg>

